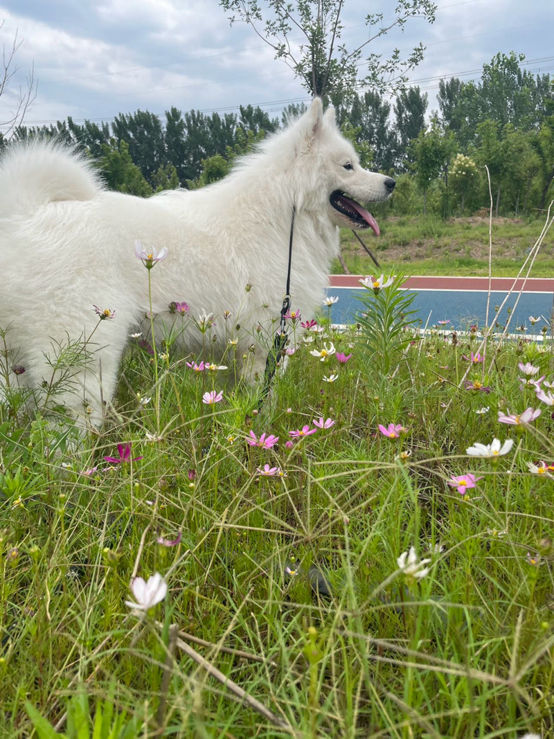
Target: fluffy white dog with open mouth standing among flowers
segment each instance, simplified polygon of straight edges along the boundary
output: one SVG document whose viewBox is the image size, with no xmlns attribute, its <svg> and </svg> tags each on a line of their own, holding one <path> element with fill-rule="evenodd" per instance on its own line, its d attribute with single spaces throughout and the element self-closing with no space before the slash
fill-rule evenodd
<svg viewBox="0 0 554 739">
<path fill-rule="evenodd" d="M 283 301 L 294 206 L 290 293 L 293 307 L 312 316 L 338 253 L 339 227 L 378 234 L 355 200 L 386 200 L 393 188 L 390 177 L 360 167 L 333 109 L 324 115 L 319 99 L 222 182 L 146 200 L 107 191 L 90 163 L 58 144 L 10 146 L 0 162 L 0 328 L 10 326 L 8 350 L 25 367 L 20 381 L 51 382 L 45 353 L 52 355 L 52 342 L 91 336 L 94 305 L 115 311 L 76 371 L 78 390 L 58 398 L 79 416 L 88 406 L 89 420 L 102 423 L 129 334 L 149 310 L 136 239 L 147 252 L 168 250 L 151 272 L 155 314 L 167 319 L 168 304 L 185 301 L 193 316 L 229 310 L 236 321 L 240 310 L 270 332 Z M 188 326 L 185 344 L 194 350 L 199 332 Z M 238 356 L 252 338 L 242 341 Z M 256 353 L 260 372 L 266 355 L 261 347 Z"/>
</svg>

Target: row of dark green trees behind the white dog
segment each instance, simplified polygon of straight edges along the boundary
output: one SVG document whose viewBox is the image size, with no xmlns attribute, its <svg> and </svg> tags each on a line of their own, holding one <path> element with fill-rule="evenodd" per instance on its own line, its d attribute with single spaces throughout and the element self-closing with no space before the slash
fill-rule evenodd
<svg viewBox="0 0 554 739">
<path fill-rule="evenodd" d="M 485 166 L 497 215 L 541 211 L 554 196 L 554 85 L 525 69 L 523 55 L 497 54 L 477 82 L 440 81 L 439 109 L 430 115 L 419 86 L 390 101 L 374 89 L 330 92 L 326 101 L 363 166 L 397 178 L 392 212 L 447 217 L 488 208 Z M 162 118 L 139 110 L 111 123 L 18 126 L 15 136 L 75 144 L 98 161 L 110 188 L 146 197 L 225 177 L 237 156 L 304 109 L 290 105 L 281 120 L 250 105 L 224 115 L 172 107 Z"/>
</svg>

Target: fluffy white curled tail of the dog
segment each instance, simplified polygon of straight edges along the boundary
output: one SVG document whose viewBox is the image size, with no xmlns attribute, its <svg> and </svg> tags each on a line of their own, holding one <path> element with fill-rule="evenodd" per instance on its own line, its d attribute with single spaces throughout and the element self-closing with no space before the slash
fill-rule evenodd
<svg viewBox="0 0 554 739">
<path fill-rule="evenodd" d="M 61 143 L 13 143 L 0 159 L 0 217 L 30 215 L 58 200 L 92 200 L 102 189 L 92 163 Z"/>
</svg>

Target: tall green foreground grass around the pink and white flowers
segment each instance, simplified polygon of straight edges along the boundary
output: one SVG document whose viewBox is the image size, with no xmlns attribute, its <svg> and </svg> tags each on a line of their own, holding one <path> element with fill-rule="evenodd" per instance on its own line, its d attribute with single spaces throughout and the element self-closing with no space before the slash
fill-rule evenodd
<svg viewBox="0 0 554 739">
<path fill-rule="evenodd" d="M 15 398 L 0 403 L 3 736 L 31 735 L 25 701 L 55 724 L 73 696 L 75 724 L 78 706 L 86 717 L 81 693 L 100 718 L 105 706 L 134 715 L 141 737 L 158 731 L 161 694 L 168 737 L 551 735 L 554 487 L 527 462 L 554 459 L 553 420 L 532 387 L 520 389 L 517 364 L 554 380 L 553 343 L 502 346 L 489 368 L 491 339 L 487 395 L 459 387 L 478 337 L 418 341 L 409 328 L 392 336 L 387 320 L 381 333 L 302 347 L 259 413 L 253 389 L 226 385 L 223 371 L 191 373 L 172 350 L 160 359 L 160 429 L 152 401 L 134 398 L 153 395 L 154 378 L 136 349 L 123 364 L 120 420 L 81 443 L 65 423 L 16 412 Z M 329 338 L 352 353 L 348 364 L 310 355 Z M 232 353 L 224 364 L 231 374 Z M 483 379 L 482 365 L 469 376 Z M 212 386 L 224 389 L 214 409 L 201 402 Z M 496 420 L 499 407 L 538 405 L 521 434 Z M 490 410 L 478 415 L 481 406 Z M 320 416 L 335 425 L 287 449 L 290 430 Z M 407 432 L 391 439 L 380 423 Z M 250 431 L 278 445 L 247 446 Z M 495 436 L 514 440 L 497 466 L 466 456 Z M 141 460 L 103 462 L 130 440 Z M 287 476 L 259 477 L 266 463 Z M 482 479 L 462 497 L 447 482 L 468 471 Z M 178 545 L 157 543 L 179 531 Z M 412 545 L 431 559 L 419 582 L 397 567 Z M 312 567 L 329 597 L 312 589 Z M 145 620 L 125 605 L 134 568 L 168 582 Z M 163 687 L 168 624 L 207 642 L 186 643 L 290 729 L 233 699 L 180 647 Z"/>
</svg>

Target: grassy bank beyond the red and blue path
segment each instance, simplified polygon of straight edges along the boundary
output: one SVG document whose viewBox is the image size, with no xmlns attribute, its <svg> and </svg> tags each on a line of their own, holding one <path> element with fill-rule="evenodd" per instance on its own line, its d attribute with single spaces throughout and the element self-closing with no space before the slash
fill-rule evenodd
<svg viewBox="0 0 554 739">
<path fill-rule="evenodd" d="M 488 217 L 443 221 L 428 217 L 378 217 L 381 235 L 362 237 L 383 270 L 401 265 L 409 274 L 488 275 Z M 514 276 L 536 242 L 544 221 L 493 218 L 493 276 Z M 352 274 L 371 273 L 372 260 L 351 231 L 341 233 L 346 266 Z M 334 270 L 342 272 L 338 260 Z M 554 275 L 554 234 L 550 232 L 538 254 L 532 277 Z"/>
</svg>

